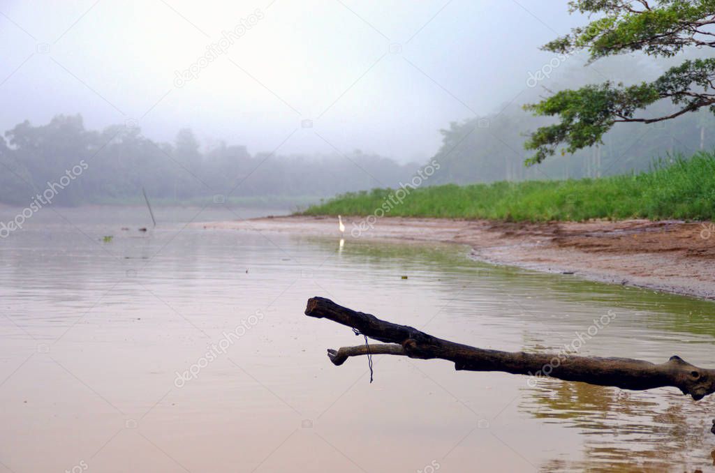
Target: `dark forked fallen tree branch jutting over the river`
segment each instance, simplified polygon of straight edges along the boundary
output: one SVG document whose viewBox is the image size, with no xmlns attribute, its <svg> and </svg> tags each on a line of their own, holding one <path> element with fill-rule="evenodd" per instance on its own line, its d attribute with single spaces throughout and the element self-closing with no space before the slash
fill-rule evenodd
<svg viewBox="0 0 715 473">
<path fill-rule="evenodd" d="M 374 315 L 342 307 L 324 297 L 308 299 L 305 315 L 347 325 L 385 344 L 342 347 L 327 351 L 330 361 L 343 364 L 350 357 L 366 354 L 402 355 L 418 359 L 446 359 L 455 369 L 500 371 L 581 381 L 622 389 L 654 389 L 672 386 L 698 401 L 715 392 L 715 369 L 696 367 L 677 356 L 654 364 L 630 358 L 576 357 L 568 354 L 500 352 L 470 347 L 433 337 L 406 325 L 380 320 Z M 548 372 L 547 372 L 548 367 Z"/>
</svg>

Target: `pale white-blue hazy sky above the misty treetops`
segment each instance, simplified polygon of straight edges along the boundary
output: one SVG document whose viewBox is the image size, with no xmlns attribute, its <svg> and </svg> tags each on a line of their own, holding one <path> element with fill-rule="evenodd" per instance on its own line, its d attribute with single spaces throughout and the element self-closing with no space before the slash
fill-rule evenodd
<svg viewBox="0 0 715 473">
<path fill-rule="evenodd" d="M 583 21 L 565 0 L 3 0 L 0 130 L 79 113 L 158 141 L 424 161 L 451 121 L 518 101 L 553 58 L 539 46 Z"/>
</svg>

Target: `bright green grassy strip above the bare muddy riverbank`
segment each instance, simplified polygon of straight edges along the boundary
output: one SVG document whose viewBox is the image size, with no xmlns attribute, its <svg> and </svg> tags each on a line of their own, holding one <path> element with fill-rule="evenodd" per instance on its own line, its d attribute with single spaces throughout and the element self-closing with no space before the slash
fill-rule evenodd
<svg viewBox="0 0 715 473">
<path fill-rule="evenodd" d="M 393 204 L 393 189 L 342 194 L 308 207 L 307 215 L 424 216 L 457 219 L 586 220 L 715 217 L 715 154 L 659 164 L 650 172 L 601 179 L 495 182 L 410 189 Z M 382 211 L 378 211 L 380 216 Z"/>
</svg>

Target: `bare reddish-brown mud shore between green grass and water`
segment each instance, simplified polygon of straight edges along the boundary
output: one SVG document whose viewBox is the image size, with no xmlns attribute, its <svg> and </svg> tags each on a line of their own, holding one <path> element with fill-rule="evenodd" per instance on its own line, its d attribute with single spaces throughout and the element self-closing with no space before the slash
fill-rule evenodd
<svg viewBox="0 0 715 473">
<path fill-rule="evenodd" d="M 371 220 L 372 221 L 372 220 Z M 346 243 L 364 219 L 344 219 Z M 340 238 L 327 216 L 264 217 L 200 224 L 205 229 L 277 231 Z M 352 232 L 355 235 L 358 231 Z M 715 227 L 683 221 L 524 223 L 385 217 L 358 239 L 446 242 L 483 262 L 573 274 L 599 282 L 715 299 Z"/>
</svg>

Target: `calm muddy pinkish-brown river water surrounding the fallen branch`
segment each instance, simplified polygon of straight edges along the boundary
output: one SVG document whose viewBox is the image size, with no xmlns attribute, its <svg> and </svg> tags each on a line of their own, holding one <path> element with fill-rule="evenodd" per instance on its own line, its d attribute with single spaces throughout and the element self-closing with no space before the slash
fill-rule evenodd
<svg viewBox="0 0 715 473">
<path fill-rule="evenodd" d="M 0 240 L 0 472 L 713 464 L 708 398 L 400 357 L 376 357 L 369 384 L 366 360 L 325 357 L 360 342 L 350 329 L 302 315 L 322 295 L 480 347 L 558 351 L 610 310 L 581 354 L 711 366 L 710 302 L 488 267 L 458 247 L 186 225 L 255 216 L 222 206 L 157 209 L 145 233 L 144 209 L 58 211 Z"/>
</svg>

